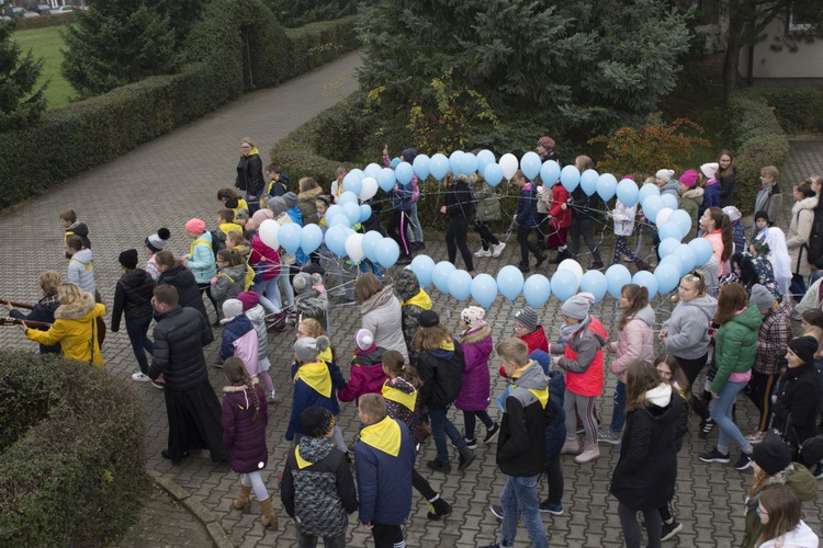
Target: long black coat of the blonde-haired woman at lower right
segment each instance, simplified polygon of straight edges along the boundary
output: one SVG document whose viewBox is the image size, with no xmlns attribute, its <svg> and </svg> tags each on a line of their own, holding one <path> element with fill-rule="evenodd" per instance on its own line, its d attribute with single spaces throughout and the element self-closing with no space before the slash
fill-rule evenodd
<svg viewBox="0 0 823 548">
<path fill-rule="evenodd" d="M 673 395 L 665 408 L 635 408 L 625 418 L 620 458 L 611 476 L 618 501 L 633 511 L 668 504 L 677 480 L 677 442 L 684 401 Z"/>
</svg>

